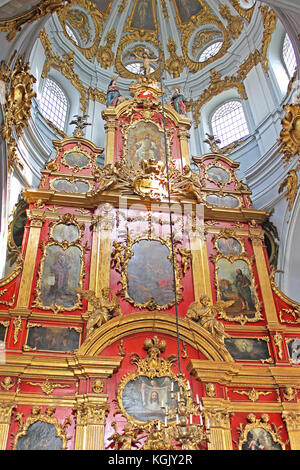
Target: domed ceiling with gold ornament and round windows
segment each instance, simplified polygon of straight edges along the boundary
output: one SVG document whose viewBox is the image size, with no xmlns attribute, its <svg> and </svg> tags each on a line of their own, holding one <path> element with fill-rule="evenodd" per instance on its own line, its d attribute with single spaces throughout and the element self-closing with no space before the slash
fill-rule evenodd
<svg viewBox="0 0 300 470">
<path fill-rule="evenodd" d="M 73 0 L 52 15 L 41 39 L 48 57 L 69 54 L 64 59 L 84 69 L 84 84 L 103 92 L 113 76 L 121 87 L 136 80 L 146 53 L 151 77 L 163 77 L 167 92 L 182 87 L 190 104 L 210 84 L 220 87 L 221 75 L 243 98 L 247 71 L 260 60 L 267 67 L 270 12 L 254 0 Z"/>
</svg>

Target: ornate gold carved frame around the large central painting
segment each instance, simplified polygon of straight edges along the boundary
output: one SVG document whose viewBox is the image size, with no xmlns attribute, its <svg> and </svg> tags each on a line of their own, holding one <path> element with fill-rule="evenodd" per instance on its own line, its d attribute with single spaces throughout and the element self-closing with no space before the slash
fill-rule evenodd
<svg viewBox="0 0 300 470">
<path fill-rule="evenodd" d="M 120 283 L 122 285 L 121 295 L 124 297 L 125 300 L 127 300 L 128 302 L 130 302 L 137 308 L 147 308 L 149 310 L 166 310 L 168 308 L 171 308 L 175 304 L 175 292 L 174 292 L 174 300 L 166 304 L 159 304 L 154 298 L 150 298 L 144 303 L 137 302 L 128 293 L 128 286 L 129 286 L 128 264 L 129 264 L 130 259 L 134 256 L 134 252 L 132 248 L 134 244 L 139 243 L 142 240 L 156 241 L 156 242 L 161 243 L 161 245 L 166 246 L 168 248 L 169 255 L 167 258 L 169 259 L 172 265 L 172 269 L 174 269 L 177 302 L 180 302 L 183 299 L 183 295 L 181 292 L 181 290 L 183 289 L 183 286 L 180 283 L 180 267 L 178 266 L 176 261 L 175 261 L 175 265 L 173 264 L 171 240 L 170 239 L 164 240 L 161 237 L 155 237 L 151 235 L 140 236 L 140 237 L 132 239 L 129 233 L 127 233 L 126 243 L 124 243 L 123 246 L 115 245 L 115 248 L 112 252 L 112 261 L 114 265 L 117 265 L 117 268 L 119 272 L 121 273 L 121 280 L 120 280 Z"/>
</svg>

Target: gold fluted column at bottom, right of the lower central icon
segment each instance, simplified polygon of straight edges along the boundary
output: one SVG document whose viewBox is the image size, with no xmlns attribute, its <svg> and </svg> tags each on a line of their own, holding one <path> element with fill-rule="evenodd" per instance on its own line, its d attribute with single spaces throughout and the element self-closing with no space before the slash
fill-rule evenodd
<svg viewBox="0 0 300 470">
<path fill-rule="evenodd" d="M 210 443 L 208 449 L 232 450 L 228 404 L 219 399 L 203 399 L 203 404 L 205 418 L 209 419 Z"/>
</svg>

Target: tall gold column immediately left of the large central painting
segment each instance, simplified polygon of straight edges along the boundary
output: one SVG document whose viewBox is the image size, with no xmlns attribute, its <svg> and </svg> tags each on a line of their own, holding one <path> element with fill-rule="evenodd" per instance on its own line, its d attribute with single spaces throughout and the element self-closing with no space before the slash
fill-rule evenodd
<svg viewBox="0 0 300 470">
<path fill-rule="evenodd" d="M 111 259 L 111 235 L 115 223 L 114 208 L 110 204 L 104 204 L 98 216 L 99 225 L 99 256 L 96 273 L 96 295 L 101 294 L 104 287 L 110 284 L 110 259 Z"/>
</svg>

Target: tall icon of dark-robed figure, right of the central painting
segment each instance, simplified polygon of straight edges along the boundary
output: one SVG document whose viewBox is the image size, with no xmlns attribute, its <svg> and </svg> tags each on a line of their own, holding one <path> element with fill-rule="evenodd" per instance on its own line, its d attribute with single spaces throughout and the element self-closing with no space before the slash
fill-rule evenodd
<svg viewBox="0 0 300 470">
<path fill-rule="evenodd" d="M 226 308 L 226 319 L 241 323 L 261 319 L 260 306 L 248 259 L 217 257 L 215 272 L 219 300 L 233 301 L 232 305 Z"/>
</svg>

